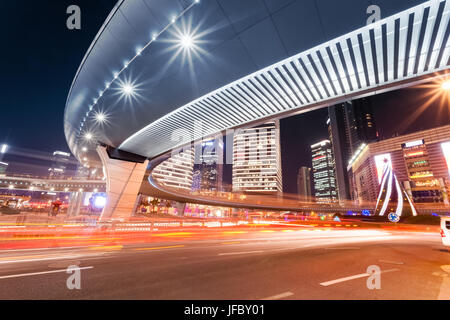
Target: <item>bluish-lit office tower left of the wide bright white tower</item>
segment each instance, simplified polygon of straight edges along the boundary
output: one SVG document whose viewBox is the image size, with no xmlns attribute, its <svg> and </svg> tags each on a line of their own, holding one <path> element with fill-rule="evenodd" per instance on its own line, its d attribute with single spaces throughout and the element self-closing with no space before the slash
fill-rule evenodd
<svg viewBox="0 0 450 320">
<path fill-rule="evenodd" d="M 192 190 L 221 191 L 224 150 L 221 138 L 204 139 L 195 145 Z"/>
</svg>

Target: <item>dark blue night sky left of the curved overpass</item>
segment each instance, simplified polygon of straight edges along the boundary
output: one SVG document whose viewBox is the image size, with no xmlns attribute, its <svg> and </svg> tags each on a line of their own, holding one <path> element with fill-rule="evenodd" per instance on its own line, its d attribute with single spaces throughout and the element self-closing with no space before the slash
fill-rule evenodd
<svg viewBox="0 0 450 320">
<path fill-rule="evenodd" d="M 0 143 L 69 151 L 63 114 L 75 73 L 116 0 L 1 1 Z M 81 30 L 66 9 L 81 7 Z"/>
</svg>

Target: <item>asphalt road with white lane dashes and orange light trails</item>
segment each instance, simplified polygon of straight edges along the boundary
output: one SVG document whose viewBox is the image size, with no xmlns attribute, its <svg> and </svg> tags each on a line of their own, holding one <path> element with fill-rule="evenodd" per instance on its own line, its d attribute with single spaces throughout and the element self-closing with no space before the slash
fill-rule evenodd
<svg viewBox="0 0 450 320">
<path fill-rule="evenodd" d="M 69 265 L 79 290 L 67 288 Z M 373 265 L 381 288 L 370 290 Z M 450 250 L 435 233 L 292 229 L 10 250 L 0 299 L 450 299 Z"/>
</svg>

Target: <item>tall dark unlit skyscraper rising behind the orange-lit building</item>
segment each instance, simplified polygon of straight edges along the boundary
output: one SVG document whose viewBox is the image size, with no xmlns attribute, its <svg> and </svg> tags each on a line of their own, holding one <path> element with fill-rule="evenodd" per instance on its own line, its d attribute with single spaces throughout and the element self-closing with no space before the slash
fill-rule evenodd
<svg viewBox="0 0 450 320">
<path fill-rule="evenodd" d="M 372 100 L 362 98 L 328 108 L 328 132 L 332 143 L 340 200 L 350 199 L 347 166 L 361 145 L 378 140 Z"/>
</svg>

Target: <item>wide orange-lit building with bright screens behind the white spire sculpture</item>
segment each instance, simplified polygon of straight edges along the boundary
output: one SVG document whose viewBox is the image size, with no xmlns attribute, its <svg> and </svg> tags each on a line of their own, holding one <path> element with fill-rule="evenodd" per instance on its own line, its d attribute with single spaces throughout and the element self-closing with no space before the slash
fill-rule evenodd
<svg viewBox="0 0 450 320">
<path fill-rule="evenodd" d="M 377 200 L 389 161 L 414 203 L 448 203 L 450 125 L 369 143 L 348 166 L 352 200 Z"/>
</svg>

